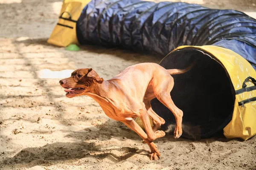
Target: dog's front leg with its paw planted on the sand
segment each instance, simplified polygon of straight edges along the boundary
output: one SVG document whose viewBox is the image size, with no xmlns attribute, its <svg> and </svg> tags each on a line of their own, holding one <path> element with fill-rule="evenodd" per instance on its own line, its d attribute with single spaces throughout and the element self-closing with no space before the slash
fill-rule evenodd
<svg viewBox="0 0 256 170">
<path fill-rule="evenodd" d="M 150 160 L 157 160 L 160 158 L 161 154 L 157 149 L 157 145 L 154 144 L 153 141 L 148 140 L 147 134 L 144 132 L 144 130 L 135 122 L 132 120 L 125 120 L 122 121 L 127 127 L 129 127 L 131 130 L 136 132 L 150 147 L 151 153 L 149 154 Z"/>
</svg>

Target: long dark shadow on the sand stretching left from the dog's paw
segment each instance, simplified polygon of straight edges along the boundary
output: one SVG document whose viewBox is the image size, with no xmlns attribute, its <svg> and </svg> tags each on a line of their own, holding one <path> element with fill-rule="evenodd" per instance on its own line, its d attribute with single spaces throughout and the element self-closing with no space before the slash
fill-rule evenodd
<svg viewBox="0 0 256 170">
<path fill-rule="evenodd" d="M 117 156 L 111 153 L 111 150 L 117 150 L 125 153 Z M 46 144 L 43 147 L 28 147 L 21 150 L 12 158 L 3 160 L 0 164 L 12 167 L 19 164 L 19 167 L 34 167 L 36 165 L 52 165 L 67 162 L 75 162 L 82 158 L 89 159 L 108 159 L 114 163 L 125 161 L 135 154 L 146 155 L 146 150 L 139 150 L 132 147 L 106 147 L 95 145 L 95 142 L 55 142 Z"/>
</svg>

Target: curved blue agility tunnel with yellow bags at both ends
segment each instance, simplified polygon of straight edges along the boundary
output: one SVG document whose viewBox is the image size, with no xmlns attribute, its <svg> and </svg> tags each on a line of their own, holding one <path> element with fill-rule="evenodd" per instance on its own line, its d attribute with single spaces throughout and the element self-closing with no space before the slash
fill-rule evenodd
<svg viewBox="0 0 256 170">
<path fill-rule="evenodd" d="M 256 134 L 256 20 L 240 11 L 140 0 L 64 0 L 48 43 L 151 51 L 173 75 L 171 96 L 183 111 L 183 137 Z M 153 110 L 172 130 L 175 117 L 157 99 Z M 140 120 L 137 120 L 140 122 Z"/>
</svg>

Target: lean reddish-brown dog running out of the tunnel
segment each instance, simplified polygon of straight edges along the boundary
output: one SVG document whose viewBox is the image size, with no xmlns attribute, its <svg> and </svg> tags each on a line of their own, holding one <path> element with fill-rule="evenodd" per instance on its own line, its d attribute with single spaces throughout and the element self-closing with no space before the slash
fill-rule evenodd
<svg viewBox="0 0 256 170">
<path fill-rule="evenodd" d="M 67 97 L 90 96 L 108 117 L 134 130 L 150 147 L 150 159 L 156 160 L 161 154 L 153 141 L 165 136 L 164 131 L 158 130 L 165 120 L 152 110 L 150 101 L 157 98 L 172 111 L 176 118 L 174 137 L 179 138 L 183 112 L 175 106 L 170 96 L 174 86 L 171 75 L 183 74 L 193 65 L 186 69 L 166 70 L 156 63 L 140 63 L 129 66 L 109 80 L 103 80 L 92 68 L 81 68 L 59 83 L 66 88 Z M 145 131 L 135 122 L 137 116 L 142 120 Z M 154 122 L 153 128 L 149 117 Z"/>
</svg>

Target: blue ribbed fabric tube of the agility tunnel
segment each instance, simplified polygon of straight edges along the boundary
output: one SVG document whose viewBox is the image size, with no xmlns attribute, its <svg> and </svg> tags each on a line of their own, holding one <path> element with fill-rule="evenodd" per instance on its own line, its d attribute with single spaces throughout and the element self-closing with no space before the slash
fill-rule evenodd
<svg viewBox="0 0 256 170">
<path fill-rule="evenodd" d="M 163 56 L 180 45 L 218 45 L 256 69 L 256 20 L 240 11 L 197 4 L 92 0 L 76 25 L 80 44 L 153 51 Z"/>
</svg>

